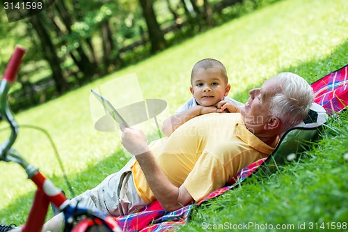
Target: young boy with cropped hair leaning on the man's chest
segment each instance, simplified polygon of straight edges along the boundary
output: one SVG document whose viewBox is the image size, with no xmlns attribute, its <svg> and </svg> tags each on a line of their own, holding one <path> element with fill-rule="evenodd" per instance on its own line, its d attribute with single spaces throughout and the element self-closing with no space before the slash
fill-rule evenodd
<svg viewBox="0 0 348 232">
<path fill-rule="evenodd" d="M 215 59 L 203 59 L 193 65 L 190 91 L 193 98 L 164 121 L 162 132 L 167 137 L 191 118 L 214 112 L 235 113 L 239 112 L 239 107 L 244 106 L 227 97 L 230 84 L 226 68 Z"/>
</svg>

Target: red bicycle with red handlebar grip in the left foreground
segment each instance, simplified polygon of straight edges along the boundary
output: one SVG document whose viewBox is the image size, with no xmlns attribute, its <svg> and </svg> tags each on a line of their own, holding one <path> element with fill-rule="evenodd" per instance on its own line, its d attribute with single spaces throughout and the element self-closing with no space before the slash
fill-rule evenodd
<svg viewBox="0 0 348 232">
<path fill-rule="evenodd" d="M 28 178 L 37 186 L 26 223 L 14 230 L 40 232 L 45 222 L 49 203 L 53 203 L 60 212 L 63 212 L 65 220 L 64 231 L 83 232 L 101 229 L 103 231 L 120 232 L 120 227 L 111 216 L 103 212 L 79 207 L 79 203 L 76 205 L 72 204 L 65 197 L 62 190 L 56 187 L 51 180 L 45 178 L 38 168 L 26 162 L 17 150 L 12 148 L 17 139 L 19 125 L 15 121 L 8 104 L 8 91 L 15 83 L 15 77 L 25 53 L 26 49 L 23 47 L 15 47 L 15 52 L 13 52 L 8 62 L 5 74 L 0 82 L 0 116 L 10 125 L 11 130 L 10 137 L 0 145 L 0 161 L 19 164 L 26 171 Z"/>
</svg>

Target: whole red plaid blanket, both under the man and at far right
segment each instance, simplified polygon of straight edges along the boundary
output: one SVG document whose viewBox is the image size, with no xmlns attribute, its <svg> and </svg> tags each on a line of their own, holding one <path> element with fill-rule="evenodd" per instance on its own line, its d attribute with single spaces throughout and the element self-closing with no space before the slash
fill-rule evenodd
<svg viewBox="0 0 348 232">
<path fill-rule="evenodd" d="M 348 105 L 348 78 L 347 78 L 348 65 L 345 67 L 331 72 L 322 79 L 317 80 L 311 84 L 313 92 L 315 93 L 315 102 L 322 105 L 329 114 L 335 114 L 342 109 L 345 109 Z M 121 217 L 115 217 L 122 231 L 129 232 L 162 232 L 162 231 L 177 231 L 180 225 L 187 222 L 189 214 L 193 207 L 200 206 L 205 201 L 212 199 L 216 196 L 220 196 L 228 190 L 232 190 L 235 186 L 239 185 L 251 173 L 258 169 L 258 167 L 266 160 L 258 160 L 257 162 L 245 167 L 239 173 L 237 173 L 228 182 L 226 187 L 222 187 L 219 190 L 215 190 L 203 200 L 184 206 L 174 212 L 166 212 L 158 201 L 150 203 L 145 206 L 140 212 L 125 215 Z"/>
</svg>

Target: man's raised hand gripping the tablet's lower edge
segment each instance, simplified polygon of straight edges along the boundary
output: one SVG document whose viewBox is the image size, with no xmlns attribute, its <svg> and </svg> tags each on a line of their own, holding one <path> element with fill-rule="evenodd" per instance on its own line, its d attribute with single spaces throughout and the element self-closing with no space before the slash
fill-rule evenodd
<svg viewBox="0 0 348 232">
<path fill-rule="evenodd" d="M 120 129 L 123 132 L 121 144 L 129 153 L 132 155 L 140 155 L 150 150 L 145 134 L 139 128 L 125 127 L 125 125 L 121 124 Z"/>
</svg>

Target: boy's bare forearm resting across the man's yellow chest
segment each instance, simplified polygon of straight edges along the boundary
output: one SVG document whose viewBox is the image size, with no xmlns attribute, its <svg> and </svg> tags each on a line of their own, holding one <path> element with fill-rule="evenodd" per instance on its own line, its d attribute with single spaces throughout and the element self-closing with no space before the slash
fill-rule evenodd
<svg viewBox="0 0 348 232">
<path fill-rule="evenodd" d="M 177 127 L 180 127 L 180 125 L 186 123 L 191 118 L 200 116 L 202 114 L 217 113 L 217 112 L 218 112 L 218 109 L 216 107 L 203 107 L 200 105 L 191 107 L 180 113 L 173 114 L 172 116 L 169 116 L 168 118 L 166 118 L 166 120 L 163 122 L 163 125 L 162 125 L 162 132 L 168 137 L 177 129 Z"/>
</svg>

